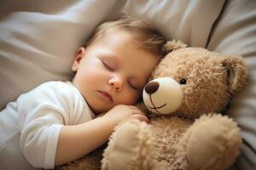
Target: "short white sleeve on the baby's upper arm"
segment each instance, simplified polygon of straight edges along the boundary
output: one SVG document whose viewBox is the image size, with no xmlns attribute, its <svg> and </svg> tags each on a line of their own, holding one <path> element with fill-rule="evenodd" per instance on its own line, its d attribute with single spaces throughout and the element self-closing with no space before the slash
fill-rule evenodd
<svg viewBox="0 0 256 170">
<path fill-rule="evenodd" d="M 33 167 L 55 167 L 61 127 L 68 122 L 73 105 L 70 88 L 62 83 L 61 87 L 45 83 L 17 100 L 20 148 Z"/>
</svg>

